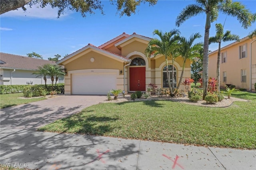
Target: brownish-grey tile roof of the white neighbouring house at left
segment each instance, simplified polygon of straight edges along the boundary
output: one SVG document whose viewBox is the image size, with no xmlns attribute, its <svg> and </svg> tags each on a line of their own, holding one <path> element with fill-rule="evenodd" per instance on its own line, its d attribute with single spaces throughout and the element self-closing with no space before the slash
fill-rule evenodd
<svg viewBox="0 0 256 170">
<path fill-rule="evenodd" d="M 13 55 L 7 53 L 0 53 L 0 60 L 3 61 L 0 64 L 1 67 L 26 70 L 37 70 L 38 66 L 42 66 L 44 64 L 56 64 L 55 61 L 34 59 L 30 57 L 24 57 L 20 55 Z"/>
</svg>

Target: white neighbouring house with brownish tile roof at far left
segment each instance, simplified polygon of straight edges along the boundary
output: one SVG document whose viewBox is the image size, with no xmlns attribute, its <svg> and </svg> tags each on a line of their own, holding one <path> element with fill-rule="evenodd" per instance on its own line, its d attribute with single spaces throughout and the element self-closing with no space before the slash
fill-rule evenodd
<svg viewBox="0 0 256 170">
<path fill-rule="evenodd" d="M 0 85 L 44 84 L 42 76 L 32 74 L 38 66 L 44 64 L 56 64 L 56 62 L 0 53 Z M 47 84 L 50 83 L 51 79 L 47 77 Z M 59 79 L 57 83 L 64 83 L 64 79 Z"/>
</svg>

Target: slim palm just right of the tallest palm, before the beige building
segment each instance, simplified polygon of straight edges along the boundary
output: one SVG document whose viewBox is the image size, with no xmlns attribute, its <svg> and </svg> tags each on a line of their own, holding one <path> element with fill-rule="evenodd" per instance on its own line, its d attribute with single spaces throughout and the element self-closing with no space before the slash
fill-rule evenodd
<svg viewBox="0 0 256 170">
<path fill-rule="evenodd" d="M 226 31 L 224 33 L 224 28 L 221 23 L 216 23 L 216 35 L 214 37 L 209 38 L 209 45 L 211 43 L 218 43 L 218 57 L 217 57 L 217 70 L 216 70 L 216 79 L 217 79 L 217 92 L 220 92 L 220 47 L 221 42 L 227 41 L 239 41 L 239 36 L 235 34 L 231 34 L 230 31 Z"/>
</svg>

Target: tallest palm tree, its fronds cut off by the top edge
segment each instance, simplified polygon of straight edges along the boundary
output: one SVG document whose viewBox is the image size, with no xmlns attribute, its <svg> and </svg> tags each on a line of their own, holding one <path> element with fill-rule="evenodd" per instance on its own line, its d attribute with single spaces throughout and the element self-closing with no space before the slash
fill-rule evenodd
<svg viewBox="0 0 256 170">
<path fill-rule="evenodd" d="M 240 2 L 232 0 L 196 0 L 196 4 L 186 6 L 176 18 L 176 26 L 180 26 L 184 21 L 199 14 L 206 14 L 204 30 L 204 58 L 203 58 L 203 99 L 207 95 L 208 86 L 208 49 L 209 32 L 211 23 L 218 18 L 218 12 L 229 16 L 234 16 L 247 29 L 256 20 L 256 14 L 252 14 Z"/>
</svg>

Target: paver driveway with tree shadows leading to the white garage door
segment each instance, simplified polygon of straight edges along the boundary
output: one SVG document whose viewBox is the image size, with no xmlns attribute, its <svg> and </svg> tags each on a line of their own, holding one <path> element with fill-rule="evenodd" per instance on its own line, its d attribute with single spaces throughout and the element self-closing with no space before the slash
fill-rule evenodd
<svg viewBox="0 0 256 170">
<path fill-rule="evenodd" d="M 1 126 L 33 130 L 104 100 L 106 96 L 63 95 L 30 104 L 7 107 L 1 109 Z"/>
</svg>

